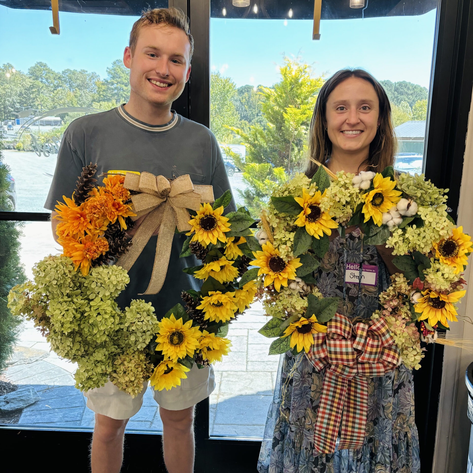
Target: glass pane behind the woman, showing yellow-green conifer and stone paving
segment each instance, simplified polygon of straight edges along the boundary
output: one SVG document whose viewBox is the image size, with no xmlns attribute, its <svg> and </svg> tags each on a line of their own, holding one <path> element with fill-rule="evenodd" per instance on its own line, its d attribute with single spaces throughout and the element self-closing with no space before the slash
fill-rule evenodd
<svg viewBox="0 0 473 473">
<path fill-rule="evenodd" d="M 364 9 L 350 9 L 348 0 L 322 2 L 318 41 L 312 39 L 313 1 L 256 0 L 245 8 L 229 0 L 210 4 L 210 126 L 237 203 L 256 217 L 275 185 L 304 170 L 317 92 L 346 67 L 366 69 L 381 81 L 399 141 L 395 167 L 421 171 L 435 3 L 406 1 L 393 8 L 392 2 L 366 0 Z M 267 355 L 271 340 L 256 332 L 266 317 L 262 307 L 254 307 L 230 326 L 235 351 L 216 365 L 220 385 L 212 397 L 213 434 L 263 435 L 272 394 L 268 375 L 274 382 L 278 357 Z M 247 345 L 239 327 L 248 330 Z M 227 394 L 231 379 L 239 382 Z"/>
</svg>

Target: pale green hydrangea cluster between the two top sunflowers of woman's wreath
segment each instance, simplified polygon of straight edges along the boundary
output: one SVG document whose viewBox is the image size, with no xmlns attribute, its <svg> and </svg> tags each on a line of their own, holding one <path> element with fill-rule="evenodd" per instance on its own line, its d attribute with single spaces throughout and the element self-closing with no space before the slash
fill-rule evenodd
<svg viewBox="0 0 473 473">
<path fill-rule="evenodd" d="M 346 225 L 353 216 L 355 209 L 363 200 L 359 189 L 353 187 L 351 180 L 355 175 L 340 171 L 337 179 L 333 180 L 327 188 L 321 209 L 328 211 L 330 216 L 341 225 Z"/>
</svg>

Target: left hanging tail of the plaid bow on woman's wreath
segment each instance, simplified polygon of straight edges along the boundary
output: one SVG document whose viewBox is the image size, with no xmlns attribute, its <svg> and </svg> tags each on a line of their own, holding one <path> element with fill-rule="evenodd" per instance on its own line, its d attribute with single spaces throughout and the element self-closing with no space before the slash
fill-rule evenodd
<svg viewBox="0 0 473 473">
<path fill-rule="evenodd" d="M 325 373 L 317 420 L 314 426 L 314 454 L 333 453 L 342 420 L 348 380 L 332 367 Z"/>
</svg>

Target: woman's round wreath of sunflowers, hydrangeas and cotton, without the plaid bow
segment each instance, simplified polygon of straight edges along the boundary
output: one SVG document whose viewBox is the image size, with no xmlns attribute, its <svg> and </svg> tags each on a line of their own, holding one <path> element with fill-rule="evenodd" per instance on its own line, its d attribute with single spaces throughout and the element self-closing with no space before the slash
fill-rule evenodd
<svg viewBox="0 0 473 473">
<path fill-rule="evenodd" d="M 272 317 L 259 332 L 277 337 L 269 353 L 318 357 L 317 344 L 340 298 L 322 297 L 314 271 L 328 252 L 332 231 L 344 236 L 345 227 L 356 225 L 365 244 L 393 249 L 399 272 L 380 294 L 371 320 L 352 322 L 382 321 L 398 362 L 420 368 L 420 341 L 448 342 L 438 329 L 448 330 L 457 320 L 455 303 L 465 294 L 462 272 L 473 245 L 448 215 L 446 192 L 424 175 L 396 176 L 392 167 L 353 175 L 320 166 L 313 179 L 297 173 L 276 189 L 261 214 L 256 234 L 261 247 L 252 262 L 263 277 L 263 305 Z"/>
</svg>

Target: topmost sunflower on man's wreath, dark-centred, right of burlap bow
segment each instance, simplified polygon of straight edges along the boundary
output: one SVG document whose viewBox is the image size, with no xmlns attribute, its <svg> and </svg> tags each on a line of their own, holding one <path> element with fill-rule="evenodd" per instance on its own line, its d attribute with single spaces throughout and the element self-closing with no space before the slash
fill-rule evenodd
<svg viewBox="0 0 473 473">
<path fill-rule="evenodd" d="M 195 232 L 191 241 L 198 241 L 204 247 L 210 243 L 216 245 L 217 240 L 226 243 L 225 232 L 230 231 L 230 224 L 227 217 L 222 216 L 222 212 L 223 206 L 213 210 L 209 203 L 202 204 L 197 215 L 189 220 L 192 228 L 186 235 L 189 236 Z"/>
</svg>

